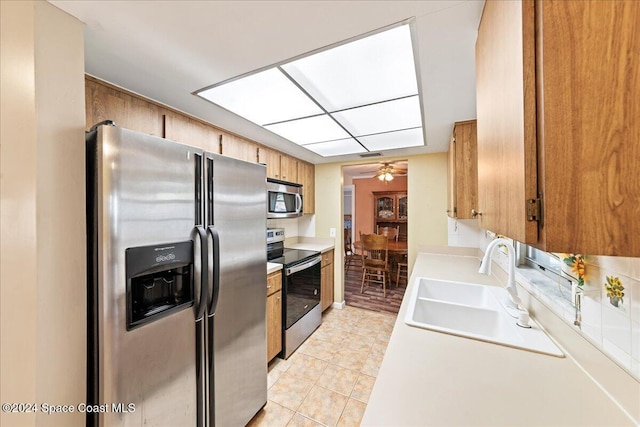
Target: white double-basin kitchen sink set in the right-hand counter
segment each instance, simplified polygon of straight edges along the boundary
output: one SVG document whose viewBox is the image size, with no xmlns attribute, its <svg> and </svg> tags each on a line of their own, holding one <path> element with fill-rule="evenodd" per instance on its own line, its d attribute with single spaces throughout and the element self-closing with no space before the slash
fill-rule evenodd
<svg viewBox="0 0 640 427">
<path fill-rule="evenodd" d="M 411 295 L 405 323 L 432 331 L 466 337 L 537 353 L 564 357 L 562 351 L 530 319 L 529 328 L 501 301 L 507 291 L 496 286 L 418 278 Z"/>
</svg>

